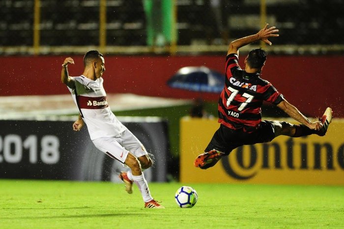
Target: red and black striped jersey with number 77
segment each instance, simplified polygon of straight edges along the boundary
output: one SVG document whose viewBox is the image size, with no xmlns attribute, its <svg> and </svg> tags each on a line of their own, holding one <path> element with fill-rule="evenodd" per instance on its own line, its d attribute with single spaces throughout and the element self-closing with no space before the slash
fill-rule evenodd
<svg viewBox="0 0 344 229">
<path fill-rule="evenodd" d="M 226 82 L 219 99 L 219 123 L 231 128 L 251 132 L 261 121 L 263 101 L 275 105 L 283 95 L 259 73 L 247 73 L 238 64 L 238 55 L 229 54 L 226 59 Z"/>
</svg>

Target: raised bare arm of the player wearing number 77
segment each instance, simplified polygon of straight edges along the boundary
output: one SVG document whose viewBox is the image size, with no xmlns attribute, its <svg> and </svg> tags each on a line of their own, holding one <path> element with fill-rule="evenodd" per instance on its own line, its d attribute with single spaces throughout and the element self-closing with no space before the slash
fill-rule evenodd
<svg viewBox="0 0 344 229">
<path fill-rule="evenodd" d="M 270 27 L 267 28 L 269 24 L 265 24 L 263 29 L 260 29 L 256 34 L 245 36 L 242 38 L 239 38 L 237 40 L 234 40 L 230 42 L 228 47 L 228 53 L 227 55 L 231 53 L 239 54 L 239 48 L 248 45 L 252 42 L 262 40 L 263 42 L 267 43 L 268 45 L 272 45 L 272 43 L 268 40 L 269 37 L 275 37 L 279 36 L 279 34 L 276 34 L 279 30 L 276 29 L 276 27 Z"/>
</svg>

